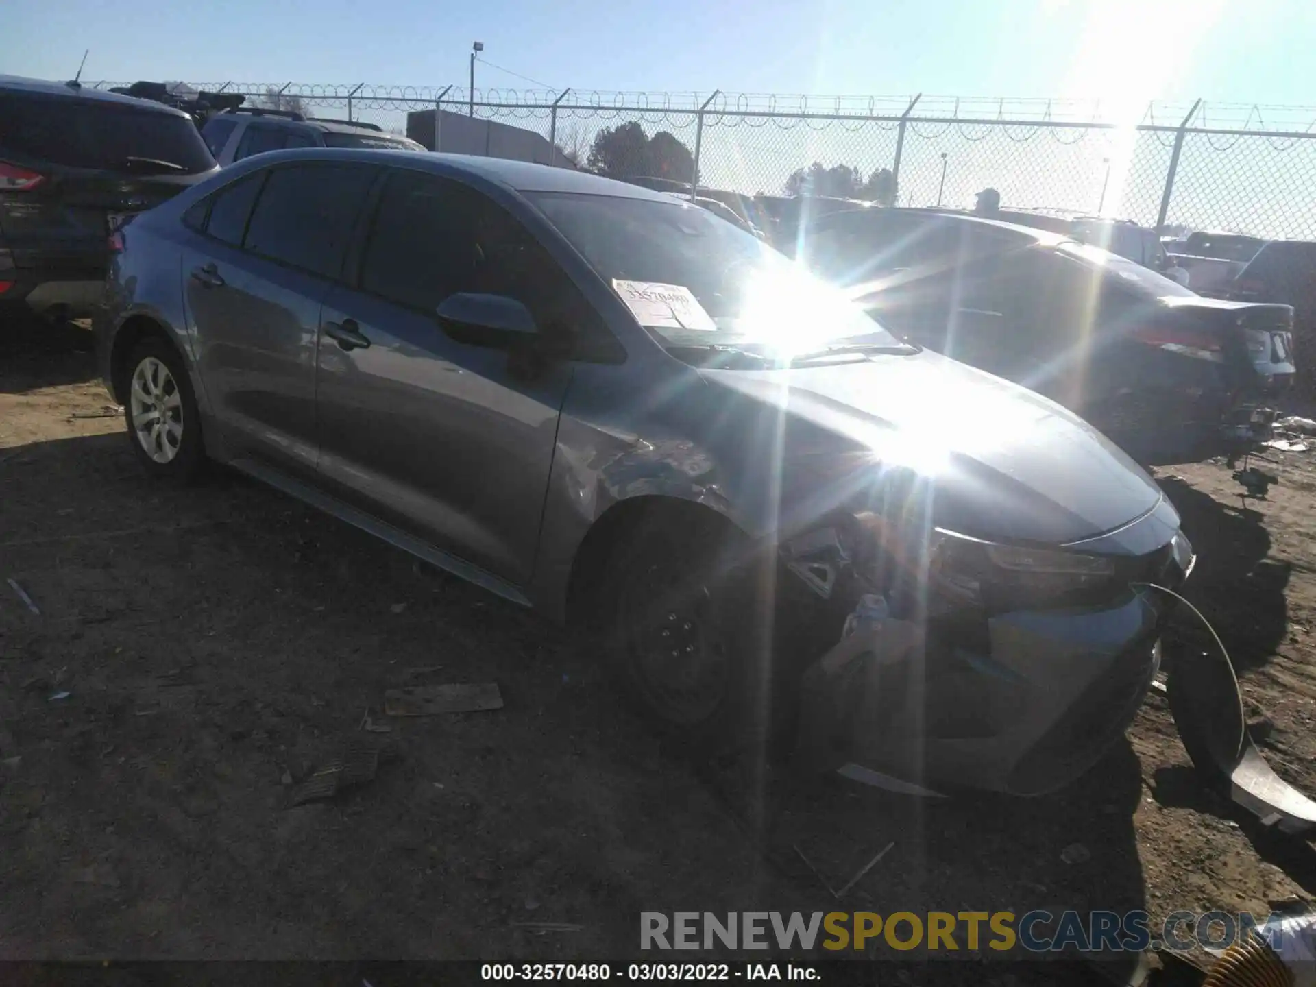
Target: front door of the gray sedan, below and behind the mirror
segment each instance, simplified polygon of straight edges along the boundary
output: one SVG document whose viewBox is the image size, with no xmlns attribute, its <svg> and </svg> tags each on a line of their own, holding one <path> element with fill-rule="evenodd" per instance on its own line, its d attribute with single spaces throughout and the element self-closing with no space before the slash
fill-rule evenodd
<svg viewBox="0 0 1316 987">
<path fill-rule="evenodd" d="M 393 171 L 358 284 L 336 288 L 321 316 L 320 471 L 340 496 L 524 584 L 571 363 L 526 370 L 524 353 L 446 334 L 434 311 L 457 292 L 516 299 L 541 330 L 592 312 L 503 207 L 451 179 Z"/>
</svg>

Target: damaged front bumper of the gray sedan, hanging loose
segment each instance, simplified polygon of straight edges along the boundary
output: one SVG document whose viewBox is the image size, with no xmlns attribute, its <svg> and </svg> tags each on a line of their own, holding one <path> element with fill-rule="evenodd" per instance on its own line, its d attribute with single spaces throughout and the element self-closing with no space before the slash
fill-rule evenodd
<svg viewBox="0 0 1316 987">
<path fill-rule="evenodd" d="M 1128 728 L 1159 666 L 1171 597 L 1144 584 L 1175 588 L 1191 569 L 1166 511 L 1087 542 L 1120 554 L 1117 584 L 1103 600 L 924 619 L 898 612 L 869 630 L 869 650 L 842 637 L 801 675 L 797 755 L 932 790 L 1041 795 L 1073 782 Z M 837 662 L 845 649 L 858 657 Z"/>
</svg>

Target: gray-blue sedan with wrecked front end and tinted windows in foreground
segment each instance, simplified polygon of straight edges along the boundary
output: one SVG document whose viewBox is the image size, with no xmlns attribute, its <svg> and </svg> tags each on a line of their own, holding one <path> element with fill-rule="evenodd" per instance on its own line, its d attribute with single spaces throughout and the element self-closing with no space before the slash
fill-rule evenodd
<svg viewBox="0 0 1316 987">
<path fill-rule="evenodd" d="M 105 380 L 226 463 L 551 619 L 699 749 L 1019 794 L 1119 737 L 1191 566 L 1159 488 L 670 196 L 265 154 L 122 226 Z"/>
</svg>

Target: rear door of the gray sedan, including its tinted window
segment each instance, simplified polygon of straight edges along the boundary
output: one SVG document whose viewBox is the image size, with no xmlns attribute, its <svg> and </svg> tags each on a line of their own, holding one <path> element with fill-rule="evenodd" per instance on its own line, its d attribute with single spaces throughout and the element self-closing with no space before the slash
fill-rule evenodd
<svg viewBox="0 0 1316 987">
<path fill-rule="evenodd" d="M 183 283 L 197 367 L 230 455 L 315 470 L 320 305 L 378 174 L 357 163 L 279 164 L 211 196 L 183 255 Z"/>
</svg>

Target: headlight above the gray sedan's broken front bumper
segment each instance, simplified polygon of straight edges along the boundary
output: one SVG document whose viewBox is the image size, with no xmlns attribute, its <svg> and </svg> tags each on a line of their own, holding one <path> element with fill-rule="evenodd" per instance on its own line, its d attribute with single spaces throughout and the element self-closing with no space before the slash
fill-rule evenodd
<svg viewBox="0 0 1316 987">
<path fill-rule="evenodd" d="M 1108 596 L 1115 562 L 1063 549 L 996 545 L 933 532 L 928 550 L 928 612 L 1007 612 Z"/>
</svg>

